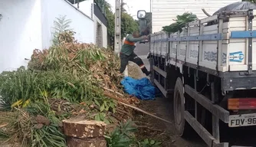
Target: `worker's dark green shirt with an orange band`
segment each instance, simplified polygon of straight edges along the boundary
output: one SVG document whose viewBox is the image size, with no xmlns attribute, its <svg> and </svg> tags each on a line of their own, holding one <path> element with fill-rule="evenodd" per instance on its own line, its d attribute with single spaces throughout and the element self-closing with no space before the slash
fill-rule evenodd
<svg viewBox="0 0 256 147">
<path fill-rule="evenodd" d="M 138 41 L 143 41 L 143 40 L 144 40 L 143 37 L 140 37 L 140 38 L 133 38 L 133 35 L 132 35 L 132 34 L 129 34 L 129 35 L 126 37 L 126 41 L 130 41 L 130 42 L 134 42 L 134 43 L 136 43 L 136 42 L 138 42 Z M 127 55 L 127 56 L 130 56 L 130 54 L 133 53 L 135 47 L 136 47 L 136 46 L 134 46 L 134 45 L 123 44 L 120 53 L 125 54 L 125 55 Z"/>
</svg>

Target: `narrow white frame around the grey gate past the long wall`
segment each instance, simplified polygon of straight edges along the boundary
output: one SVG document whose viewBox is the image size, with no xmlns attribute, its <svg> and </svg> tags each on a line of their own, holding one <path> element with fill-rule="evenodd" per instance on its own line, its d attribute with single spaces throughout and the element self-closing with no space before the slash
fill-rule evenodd
<svg viewBox="0 0 256 147">
<path fill-rule="evenodd" d="M 100 24 L 101 25 L 101 27 L 102 27 L 102 44 L 103 44 L 103 47 L 105 47 L 105 48 L 107 48 L 107 26 L 105 26 L 101 21 L 100 21 L 100 19 L 99 18 L 97 18 L 97 16 L 96 15 L 94 15 L 94 36 L 95 36 L 95 38 L 94 38 L 94 42 L 96 42 L 96 40 L 97 40 L 97 24 Z"/>
</svg>

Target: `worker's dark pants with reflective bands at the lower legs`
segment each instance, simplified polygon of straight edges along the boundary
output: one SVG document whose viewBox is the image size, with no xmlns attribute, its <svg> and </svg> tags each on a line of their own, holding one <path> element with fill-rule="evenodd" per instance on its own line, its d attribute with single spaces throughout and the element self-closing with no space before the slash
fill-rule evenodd
<svg viewBox="0 0 256 147">
<path fill-rule="evenodd" d="M 132 61 L 140 67 L 143 73 L 145 73 L 146 75 L 149 74 L 149 71 L 146 70 L 146 67 L 143 64 L 143 60 L 141 60 L 141 58 L 138 57 L 135 53 L 130 54 L 130 56 L 120 53 L 120 60 L 121 60 L 120 73 L 123 73 L 123 71 L 126 69 L 126 65 L 128 64 L 128 62 Z"/>
</svg>

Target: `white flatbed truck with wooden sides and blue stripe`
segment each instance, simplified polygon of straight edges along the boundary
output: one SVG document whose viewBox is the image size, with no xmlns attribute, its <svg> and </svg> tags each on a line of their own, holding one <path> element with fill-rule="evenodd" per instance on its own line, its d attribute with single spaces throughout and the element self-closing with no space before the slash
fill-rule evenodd
<svg viewBox="0 0 256 147">
<path fill-rule="evenodd" d="M 192 127 L 208 146 L 228 147 L 220 137 L 221 122 L 256 126 L 254 15 L 254 10 L 223 11 L 190 22 L 181 33 L 150 34 L 151 80 L 173 99 L 179 136 Z M 209 25 L 212 21 L 217 23 Z"/>
</svg>

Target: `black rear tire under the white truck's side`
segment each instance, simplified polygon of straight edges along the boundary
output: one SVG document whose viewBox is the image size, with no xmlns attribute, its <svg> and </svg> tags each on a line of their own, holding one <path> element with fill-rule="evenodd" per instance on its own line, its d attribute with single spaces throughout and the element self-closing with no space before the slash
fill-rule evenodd
<svg viewBox="0 0 256 147">
<path fill-rule="evenodd" d="M 184 103 L 184 93 L 182 80 L 178 77 L 176 80 L 176 85 L 174 88 L 173 97 L 173 113 L 174 113 L 174 123 L 176 127 L 176 133 L 179 136 L 185 136 L 189 129 L 189 124 L 186 123 L 184 118 L 185 103 Z"/>
</svg>

